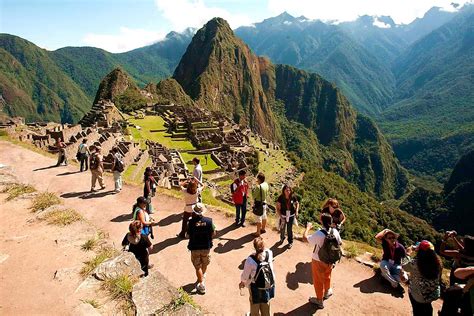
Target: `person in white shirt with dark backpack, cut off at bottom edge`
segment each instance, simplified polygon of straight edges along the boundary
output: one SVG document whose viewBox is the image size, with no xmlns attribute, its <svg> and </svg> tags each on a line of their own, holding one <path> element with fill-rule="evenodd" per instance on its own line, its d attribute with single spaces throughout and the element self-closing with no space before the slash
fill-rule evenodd
<svg viewBox="0 0 474 316">
<path fill-rule="evenodd" d="M 255 253 L 247 257 L 240 275 L 239 288 L 247 287 L 250 293 L 250 315 L 270 316 L 270 301 L 275 297 L 273 253 L 265 248 L 262 237 L 253 240 Z"/>
</svg>

